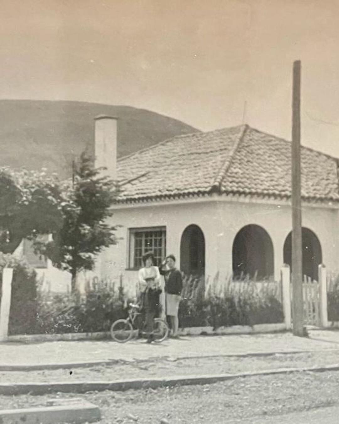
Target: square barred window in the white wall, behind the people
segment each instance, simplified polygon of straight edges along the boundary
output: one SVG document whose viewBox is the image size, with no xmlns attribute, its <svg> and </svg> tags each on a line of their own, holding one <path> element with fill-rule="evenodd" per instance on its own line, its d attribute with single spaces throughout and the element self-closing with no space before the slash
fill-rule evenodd
<svg viewBox="0 0 339 424">
<path fill-rule="evenodd" d="M 142 257 L 147 252 L 153 252 L 156 266 L 166 255 L 166 228 L 131 228 L 129 245 L 129 268 L 142 268 Z"/>
</svg>

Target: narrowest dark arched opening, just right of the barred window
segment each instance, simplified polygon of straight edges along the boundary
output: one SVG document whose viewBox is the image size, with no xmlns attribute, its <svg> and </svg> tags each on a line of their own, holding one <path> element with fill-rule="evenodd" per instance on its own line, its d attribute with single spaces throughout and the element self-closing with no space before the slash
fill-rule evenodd
<svg viewBox="0 0 339 424">
<path fill-rule="evenodd" d="M 205 273 L 205 237 L 197 225 L 186 227 L 181 236 L 180 268 L 186 275 Z"/>
</svg>

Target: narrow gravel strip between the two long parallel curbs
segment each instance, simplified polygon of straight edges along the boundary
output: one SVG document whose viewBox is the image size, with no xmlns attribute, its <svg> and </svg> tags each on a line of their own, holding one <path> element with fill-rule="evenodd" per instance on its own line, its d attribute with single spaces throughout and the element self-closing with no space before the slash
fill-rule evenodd
<svg viewBox="0 0 339 424">
<path fill-rule="evenodd" d="M 269 357 L 205 357 L 170 360 L 152 360 L 119 363 L 92 368 L 45 371 L 0 372 L 0 382 L 58 382 L 58 381 L 116 381 L 194 374 L 236 374 L 274 368 L 300 368 L 339 363 L 339 351 L 316 351 L 300 354 L 275 354 Z"/>
</svg>

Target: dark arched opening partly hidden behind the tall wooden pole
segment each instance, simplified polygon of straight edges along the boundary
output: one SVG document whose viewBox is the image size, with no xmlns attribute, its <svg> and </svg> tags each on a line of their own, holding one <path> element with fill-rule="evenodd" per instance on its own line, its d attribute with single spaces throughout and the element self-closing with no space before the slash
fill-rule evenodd
<svg viewBox="0 0 339 424">
<path fill-rule="evenodd" d="M 303 243 L 303 275 L 318 279 L 318 266 L 322 263 L 320 241 L 316 234 L 308 228 L 301 230 Z M 291 267 L 292 272 L 292 232 L 286 237 L 283 245 L 283 262 Z"/>
</svg>

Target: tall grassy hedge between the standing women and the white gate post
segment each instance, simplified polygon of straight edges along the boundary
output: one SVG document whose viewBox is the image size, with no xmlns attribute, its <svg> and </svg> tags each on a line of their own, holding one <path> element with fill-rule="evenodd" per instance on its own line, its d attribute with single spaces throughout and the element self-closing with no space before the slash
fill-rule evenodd
<svg viewBox="0 0 339 424">
<path fill-rule="evenodd" d="M 208 285 L 206 291 L 205 286 Z M 269 324 L 283 322 L 277 285 L 245 280 L 221 282 L 217 275 L 211 284 L 204 279 L 185 277 L 179 308 L 181 327 Z"/>
</svg>

